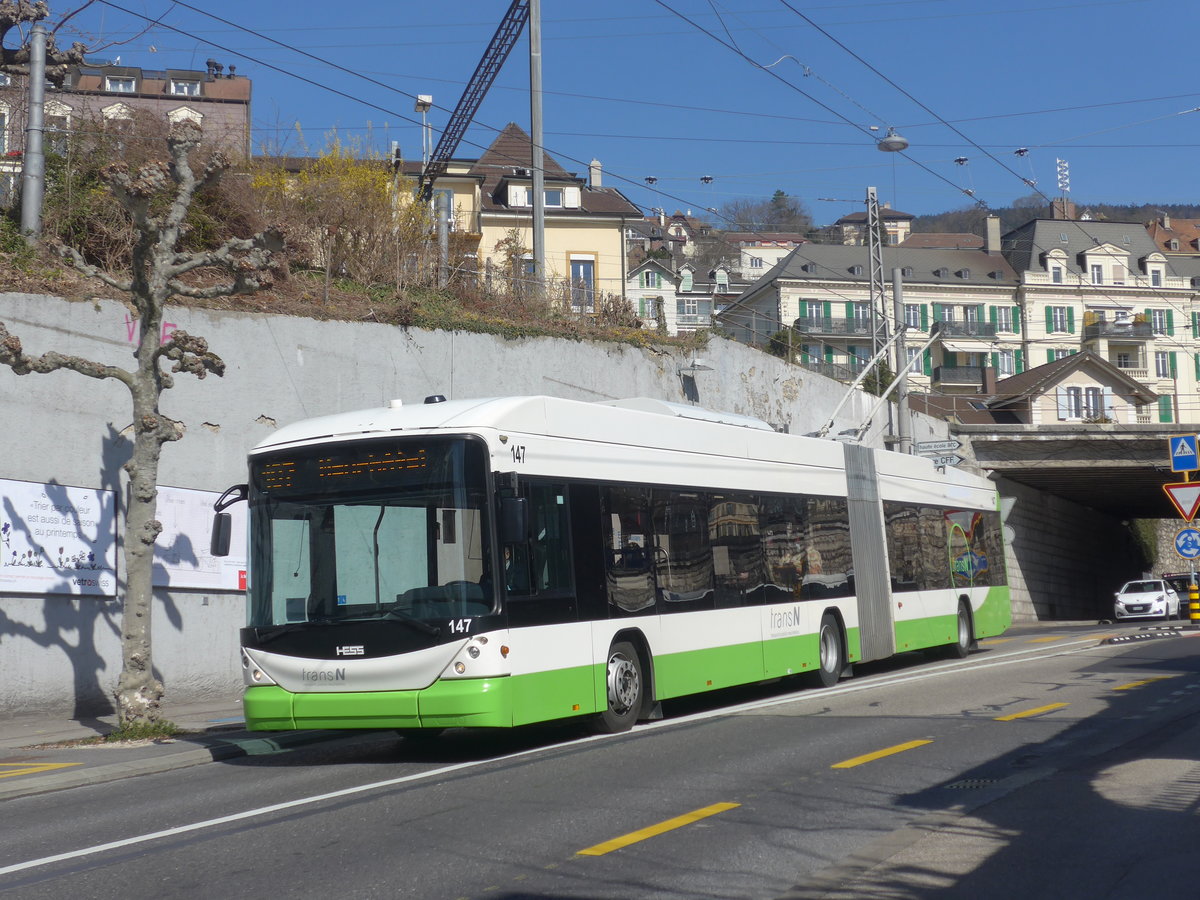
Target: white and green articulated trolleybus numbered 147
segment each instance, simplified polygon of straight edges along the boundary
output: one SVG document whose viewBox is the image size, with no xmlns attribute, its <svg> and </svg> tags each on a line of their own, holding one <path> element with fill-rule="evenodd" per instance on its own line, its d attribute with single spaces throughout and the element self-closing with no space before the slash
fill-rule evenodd
<svg viewBox="0 0 1200 900">
<path fill-rule="evenodd" d="M 508 727 L 944 647 L 1010 620 L 985 479 L 653 400 L 444 401 L 250 456 L 254 730 Z"/>
</svg>

